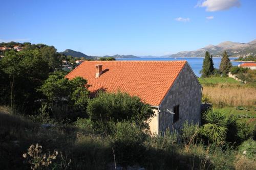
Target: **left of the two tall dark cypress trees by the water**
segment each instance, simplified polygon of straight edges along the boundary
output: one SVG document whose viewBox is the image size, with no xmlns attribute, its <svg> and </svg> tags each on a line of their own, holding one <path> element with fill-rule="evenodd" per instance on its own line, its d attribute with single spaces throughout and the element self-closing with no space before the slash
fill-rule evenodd
<svg viewBox="0 0 256 170">
<path fill-rule="evenodd" d="M 209 52 L 205 52 L 205 57 L 203 61 L 203 68 L 200 71 L 201 77 L 209 77 L 214 74 L 214 62 L 212 61 L 212 55 Z"/>
</svg>

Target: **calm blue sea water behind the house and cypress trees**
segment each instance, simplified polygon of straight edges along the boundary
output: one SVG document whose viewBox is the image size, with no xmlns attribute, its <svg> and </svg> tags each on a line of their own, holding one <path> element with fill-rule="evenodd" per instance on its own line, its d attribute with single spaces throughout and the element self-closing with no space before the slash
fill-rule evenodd
<svg viewBox="0 0 256 170">
<path fill-rule="evenodd" d="M 236 58 L 229 58 L 230 60 L 234 60 Z M 143 60 L 143 61 L 173 61 L 173 60 L 186 60 L 190 67 L 193 69 L 195 74 L 200 77 L 199 71 L 202 69 L 203 60 L 204 58 L 124 58 L 124 59 L 117 59 L 117 60 Z M 214 66 L 219 68 L 221 63 L 221 58 L 213 58 Z M 239 62 L 231 62 L 232 65 L 241 64 Z"/>
</svg>

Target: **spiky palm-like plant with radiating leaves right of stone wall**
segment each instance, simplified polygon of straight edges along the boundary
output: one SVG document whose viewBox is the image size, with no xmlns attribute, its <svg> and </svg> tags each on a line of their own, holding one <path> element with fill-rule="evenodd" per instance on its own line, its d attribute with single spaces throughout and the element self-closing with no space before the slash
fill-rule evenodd
<svg viewBox="0 0 256 170">
<path fill-rule="evenodd" d="M 225 115 L 219 111 L 208 110 L 203 115 L 203 119 L 206 122 L 203 132 L 209 140 L 217 145 L 224 144 L 227 132 Z"/>
</svg>

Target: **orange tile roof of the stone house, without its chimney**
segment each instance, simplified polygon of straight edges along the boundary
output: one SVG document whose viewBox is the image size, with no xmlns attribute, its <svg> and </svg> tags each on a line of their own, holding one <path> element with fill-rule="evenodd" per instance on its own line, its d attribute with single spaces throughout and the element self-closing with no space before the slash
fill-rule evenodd
<svg viewBox="0 0 256 170">
<path fill-rule="evenodd" d="M 95 78 L 96 64 L 102 64 L 99 78 Z M 186 61 L 84 61 L 66 77 L 83 77 L 91 85 L 91 92 L 120 90 L 159 106 L 185 64 Z"/>
</svg>

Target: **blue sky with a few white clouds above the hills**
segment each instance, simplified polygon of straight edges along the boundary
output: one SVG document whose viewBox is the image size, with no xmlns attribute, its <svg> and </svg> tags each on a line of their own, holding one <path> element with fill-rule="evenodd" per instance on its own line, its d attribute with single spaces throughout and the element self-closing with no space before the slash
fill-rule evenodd
<svg viewBox="0 0 256 170">
<path fill-rule="evenodd" d="M 0 41 L 161 56 L 256 39 L 256 1 L 2 1 Z"/>
</svg>

